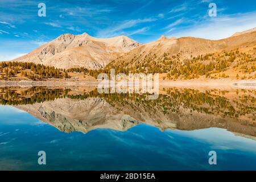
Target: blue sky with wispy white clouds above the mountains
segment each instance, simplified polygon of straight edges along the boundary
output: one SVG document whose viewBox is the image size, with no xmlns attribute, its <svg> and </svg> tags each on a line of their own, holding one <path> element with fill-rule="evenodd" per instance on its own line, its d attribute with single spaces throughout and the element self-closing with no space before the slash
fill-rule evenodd
<svg viewBox="0 0 256 182">
<path fill-rule="evenodd" d="M 208 15 L 216 3 L 217 16 Z M 46 17 L 38 4 L 46 4 Z M 256 1 L 0 0 L 0 60 L 28 53 L 64 33 L 126 35 L 141 43 L 165 36 L 226 38 L 256 27 Z"/>
</svg>

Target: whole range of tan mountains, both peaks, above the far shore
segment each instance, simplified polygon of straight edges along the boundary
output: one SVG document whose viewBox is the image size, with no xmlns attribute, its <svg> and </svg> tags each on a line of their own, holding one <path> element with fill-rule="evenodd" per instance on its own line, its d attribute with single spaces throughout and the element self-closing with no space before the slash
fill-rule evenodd
<svg viewBox="0 0 256 182">
<path fill-rule="evenodd" d="M 221 60 L 218 54 L 224 51 L 236 52 L 237 49 L 243 48 L 242 51 L 245 51 L 245 53 L 250 51 L 249 55 L 247 55 L 248 58 L 254 57 L 256 45 L 255 30 L 256 28 L 240 32 L 221 40 L 207 40 L 193 37 L 166 38 L 162 36 L 155 42 L 147 44 L 139 44 L 126 36 L 98 39 L 88 34 L 64 34 L 52 42 L 35 49 L 35 51 L 28 53 L 28 55 L 19 57 L 13 61 L 40 63 L 57 68 L 85 67 L 89 69 L 106 68 L 108 70 L 115 68 L 119 72 L 173 72 L 172 75 L 177 78 L 180 76 L 180 73 L 181 75 L 184 73 L 184 69 L 187 69 L 183 68 L 186 59 L 193 59 L 195 57 L 196 60 L 191 60 L 189 63 L 187 61 L 187 64 L 191 65 L 194 63 L 195 65 L 193 66 L 201 69 L 212 60 Z M 214 53 L 215 55 L 210 57 L 210 59 L 202 60 L 202 57 L 198 57 L 203 55 L 208 58 L 210 55 L 207 54 Z M 232 55 L 232 52 L 230 55 Z M 236 55 L 236 57 L 241 56 L 240 52 Z M 227 60 L 229 58 L 230 56 L 225 57 Z M 236 60 L 235 63 L 240 65 L 238 61 Z M 252 68 L 254 61 L 249 62 L 243 66 Z M 222 68 L 221 61 L 213 61 L 213 63 L 216 64 L 214 68 Z M 210 77 L 214 77 L 216 75 L 212 76 L 212 73 L 220 73 L 225 69 L 228 70 L 229 66 L 232 68 L 232 64 L 231 62 L 225 64 L 226 67 L 221 70 L 210 69 L 210 71 L 204 71 L 204 73 L 200 74 L 199 72 L 201 71 L 196 73 L 189 71 L 186 74 L 194 75 L 195 77 L 207 74 Z M 175 68 L 180 70 L 176 71 Z M 240 71 L 241 69 L 238 67 L 236 74 L 240 73 Z M 179 75 L 175 75 L 174 72 L 178 72 Z M 234 73 L 231 69 L 229 72 Z M 251 77 L 254 70 L 245 70 L 245 73 L 248 72 L 250 72 L 248 76 Z"/>
</svg>

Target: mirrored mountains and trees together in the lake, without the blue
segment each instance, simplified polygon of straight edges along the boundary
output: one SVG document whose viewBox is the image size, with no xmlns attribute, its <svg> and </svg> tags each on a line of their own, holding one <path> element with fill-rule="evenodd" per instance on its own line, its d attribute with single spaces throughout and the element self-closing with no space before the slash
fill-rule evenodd
<svg viewBox="0 0 256 182">
<path fill-rule="evenodd" d="M 65 133 L 97 128 L 125 131 L 139 123 L 161 130 L 220 127 L 256 137 L 255 90 L 163 88 L 146 94 L 99 94 L 97 89 L 2 88 L 2 105 L 13 105 Z"/>
</svg>

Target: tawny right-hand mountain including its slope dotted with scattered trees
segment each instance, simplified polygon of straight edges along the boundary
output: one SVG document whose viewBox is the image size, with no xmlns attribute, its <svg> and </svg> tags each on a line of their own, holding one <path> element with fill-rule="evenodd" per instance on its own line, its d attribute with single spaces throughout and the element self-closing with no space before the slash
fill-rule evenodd
<svg viewBox="0 0 256 182">
<path fill-rule="evenodd" d="M 197 61 L 199 64 L 202 64 L 202 67 L 207 66 L 210 61 L 213 63 L 220 62 L 221 60 L 228 61 L 230 56 L 228 57 L 227 55 L 224 60 L 218 55 L 223 54 L 225 51 L 237 52 L 238 49 L 240 51 L 249 51 L 249 56 L 251 56 L 249 58 L 251 63 L 253 63 L 255 46 L 256 31 L 220 40 L 193 37 L 160 38 L 156 42 L 143 44 L 124 56 L 118 57 L 118 59 L 108 64 L 105 69 L 115 68 L 118 72 L 131 71 L 133 73 L 168 73 L 171 69 L 175 69 L 177 65 L 183 67 L 189 61 L 191 63 Z M 214 53 L 216 59 L 208 59 Z M 197 67 L 200 66 L 197 64 Z M 183 72 L 184 70 L 180 71 Z"/>
</svg>

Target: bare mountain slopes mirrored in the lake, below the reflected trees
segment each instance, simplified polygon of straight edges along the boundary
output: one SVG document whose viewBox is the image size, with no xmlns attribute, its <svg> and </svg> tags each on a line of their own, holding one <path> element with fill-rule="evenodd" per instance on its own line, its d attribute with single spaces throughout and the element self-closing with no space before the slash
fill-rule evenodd
<svg viewBox="0 0 256 182">
<path fill-rule="evenodd" d="M 189 131 L 219 127 L 228 129 L 237 135 L 243 135 L 243 137 L 252 139 L 256 137 L 255 123 L 247 122 L 245 118 L 223 118 L 218 114 L 191 112 L 182 106 L 180 106 L 181 113 L 166 112 L 158 105 L 146 107 L 133 100 L 126 100 L 125 106 L 121 100 L 111 102 L 110 104 L 109 100 L 98 97 L 85 100 L 58 98 L 53 101 L 15 107 L 34 115 L 64 133 L 73 131 L 88 133 L 94 129 L 126 131 L 133 126 L 146 123 L 162 131 L 166 129 Z"/>
</svg>

